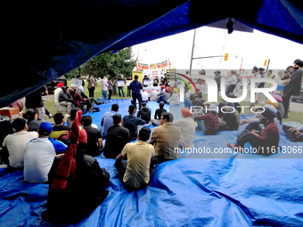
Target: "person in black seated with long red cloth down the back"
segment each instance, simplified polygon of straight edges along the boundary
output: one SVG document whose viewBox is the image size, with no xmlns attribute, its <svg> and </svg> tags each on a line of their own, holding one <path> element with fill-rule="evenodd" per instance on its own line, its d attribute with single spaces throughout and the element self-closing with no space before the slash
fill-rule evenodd
<svg viewBox="0 0 303 227">
<path fill-rule="evenodd" d="M 55 158 L 48 174 L 47 210 L 42 213 L 51 223 L 78 223 L 90 215 L 107 197 L 110 174 L 98 161 L 84 154 L 86 130 L 80 127 L 82 111 L 78 110 L 70 129 L 69 148 Z"/>
</svg>

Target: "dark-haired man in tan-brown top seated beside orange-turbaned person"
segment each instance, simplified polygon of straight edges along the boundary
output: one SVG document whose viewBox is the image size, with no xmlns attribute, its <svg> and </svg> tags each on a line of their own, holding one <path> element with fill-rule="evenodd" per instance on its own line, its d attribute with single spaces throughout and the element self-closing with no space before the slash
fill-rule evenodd
<svg viewBox="0 0 303 227">
<path fill-rule="evenodd" d="M 181 129 L 173 124 L 174 116 L 164 112 L 160 118 L 160 126 L 153 129 L 151 133 L 151 145 L 155 148 L 155 160 L 162 163 L 179 158 L 176 149 L 181 139 Z"/>
</svg>

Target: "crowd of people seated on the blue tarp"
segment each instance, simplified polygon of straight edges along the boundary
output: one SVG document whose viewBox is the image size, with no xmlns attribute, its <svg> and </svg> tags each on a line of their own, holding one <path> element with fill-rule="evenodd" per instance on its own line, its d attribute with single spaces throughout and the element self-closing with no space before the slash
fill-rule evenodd
<svg viewBox="0 0 303 227">
<path fill-rule="evenodd" d="M 283 119 L 280 95 L 274 95 L 278 102 L 266 100 L 265 105 L 255 109 L 253 118 L 240 121 L 240 103 L 206 102 L 202 93 L 192 94 L 187 88 L 184 94 L 181 119 L 174 121 L 174 115 L 164 109 L 166 102 L 179 104 L 179 90 L 163 85 L 162 93 L 154 100 L 160 103 L 154 118 L 146 102 L 136 117 L 136 106 L 130 105 L 124 118 L 119 114 L 119 105 L 112 104 L 102 115 L 100 130 L 92 125 L 91 116 L 82 116 L 83 104 L 89 111 L 91 101 L 61 86 L 58 102 L 68 107 L 67 122 L 63 114 L 56 113 L 52 125 L 37 120 L 35 110 L 28 110 L 24 118 L 12 122 L 15 133 L 4 139 L 2 156 L 12 171 L 23 169 L 25 182 L 49 184 L 45 220 L 75 223 L 94 211 L 108 194 L 110 174 L 94 158 L 102 152 L 105 158 L 116 159 L 119 180 L 128 191 L 134 191 L 149 184 L 156 165 L 179 158 L 176 148 L 194 147 L 196 133 L 216 135 L 237 131 L 247 124 L 236 143 L 229 142 L 228 147 L 241 151 L 250 142 L 254 148 L 278 148 Z M 233 93 L 227 96 L 235 98 Z M 72 108 L 72 103 L 77 108 Z M 202 110 L 192 112 L 192 106 Z M 152 132 L 151 124 L 156 126 Z M 303 141 L 302 128 L 283 126 L 291 142 Z"/>
</svg>

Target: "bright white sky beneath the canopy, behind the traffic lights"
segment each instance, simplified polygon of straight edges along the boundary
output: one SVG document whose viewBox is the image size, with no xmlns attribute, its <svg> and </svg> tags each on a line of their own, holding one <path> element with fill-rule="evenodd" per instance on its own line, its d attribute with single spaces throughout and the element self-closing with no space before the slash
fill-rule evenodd
<svg viewBox="0 0 303 227">
<path fill-rule="evenodd" d="M 169 59 L 176 69 L 190 69 L 194 30 L 166 36 L 140 45 L 132 46 L 134 58 L 141 63 L 158 63 Z M 303 60 L 303 45 L 288 39 L 269 35 L 254 29 L 253 33 L 226 29 L 201 27 L 196 29 L 193 58 L 225 55 L 192 61 L 192 69 L 242 69 L 263 67 L 270 59 L 268 69 L 286 69 L 295 59 Z M 236 58 L 236 56 L 238 56 Z"/>
</svg>

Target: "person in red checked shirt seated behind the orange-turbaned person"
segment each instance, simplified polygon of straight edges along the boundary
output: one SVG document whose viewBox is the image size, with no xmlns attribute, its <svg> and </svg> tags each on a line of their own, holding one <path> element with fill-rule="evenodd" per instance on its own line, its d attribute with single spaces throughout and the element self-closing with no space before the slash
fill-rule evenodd
<svg viewBox="0 0 303 227">
<path fill-rule="evenodd" d="M 205 104 L 208 113 L 202 115 L 195 115 L 194 119 L 197 121 L 198 126 L 201 128 L 201 133 L 206 135 L 217 134 L 219 130 L 219 119 L 217 117 L 217 105 Z"/>
</svg>

